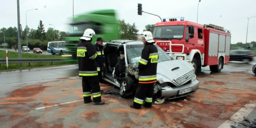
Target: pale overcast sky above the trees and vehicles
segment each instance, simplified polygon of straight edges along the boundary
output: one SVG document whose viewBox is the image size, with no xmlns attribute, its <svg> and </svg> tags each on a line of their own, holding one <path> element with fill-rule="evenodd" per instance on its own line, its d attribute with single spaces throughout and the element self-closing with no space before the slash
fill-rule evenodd
<svg viewBox="0 0 256 128">
<path fill-rule="evenodd" d="M 41 20 L 45 31 L 55 27 L 67 32 L 73 14 L 114 9 L 117 19 L 135 23 L 139 34 L 147 24 L 160 22 L 159 17 L 147 14 L 152 13 L 161 18 L 185 17 L 187 21 L 224 27 L 231 31 L 231 43 L 245 43 L 246 35 L 247 42 L 256 41 L 256 0 L 19 0 L 19 3 L 23 29 L 26 21 L 30 29 L 37 29 Z M 137 14 L 138 3 L 147 13 Z M 0 29 L 17 27 L 17 12 L 17 0 L 0 0 Z"/>
</svg>

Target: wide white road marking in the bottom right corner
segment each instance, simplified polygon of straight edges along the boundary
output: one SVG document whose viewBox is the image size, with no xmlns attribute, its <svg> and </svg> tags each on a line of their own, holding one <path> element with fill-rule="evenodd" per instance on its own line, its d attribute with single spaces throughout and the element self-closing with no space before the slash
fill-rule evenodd
<svg viewBox="0 0 256 128">
<path fill-rule="evenodd" d="M 256 101 L 249 101 L 244 107 L 242 107 L 238 112 L 236 112 L 229 120 L 226 120 L 218 128 L 231 128 L 231 125 L 234 125 L 235 122 L 241 122 L 244 120 L 243 116 L 247 116 L 253 109 L 256 108 Z"/>
</svg>

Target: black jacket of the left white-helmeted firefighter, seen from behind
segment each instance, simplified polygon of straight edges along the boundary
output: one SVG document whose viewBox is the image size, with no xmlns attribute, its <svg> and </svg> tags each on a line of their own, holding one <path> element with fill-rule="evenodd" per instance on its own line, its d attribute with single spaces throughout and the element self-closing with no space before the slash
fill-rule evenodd
<svg viewBox="0 0 256 128">
<path fill-rule="evenodd" d="M 91 42 L 81 40 L 76 48 L 78 58 L 79 77 L 98 77 L 96 60 L 96 50 Z"/>
</svg>

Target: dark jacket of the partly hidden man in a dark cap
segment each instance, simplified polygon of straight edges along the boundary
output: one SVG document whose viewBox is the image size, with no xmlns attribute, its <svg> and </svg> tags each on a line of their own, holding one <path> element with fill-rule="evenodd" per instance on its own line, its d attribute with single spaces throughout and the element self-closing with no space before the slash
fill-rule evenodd
<svg viewBox="0 0 256 128">
<path fill-rule="evenodd" d="M 101 71 L 103 67 L 103 63 L 105 61 L 104 58 L 104 50 L 102 45 L 98 45 L 97 42 L 94 44 L 94 48 L 96 49 L 97 52 L 97 57 L 96 57 L 96 64 L 97 64 L 97 71 Z"/>
</svg>

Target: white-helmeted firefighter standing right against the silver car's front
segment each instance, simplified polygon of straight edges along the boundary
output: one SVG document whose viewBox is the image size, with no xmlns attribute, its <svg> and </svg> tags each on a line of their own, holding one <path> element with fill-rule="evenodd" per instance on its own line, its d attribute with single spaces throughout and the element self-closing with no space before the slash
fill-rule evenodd
<svg viewBox="0 0 256 128">
<path fill-rule="evenodd" d="M 154 46 L 152 33 L 144 31 L 141 35 L 144 49 L 139 60 L 139 84 L 137 86 L 134 102 L 130 107 L 140 109 L 144 107 L 151 108 L 152 97 L 154 93 L 154 83 L 157 82 L 157 62 L 158 52 Z M 145 102 L 143 104 L 143 101 Z"/>
</svg>

